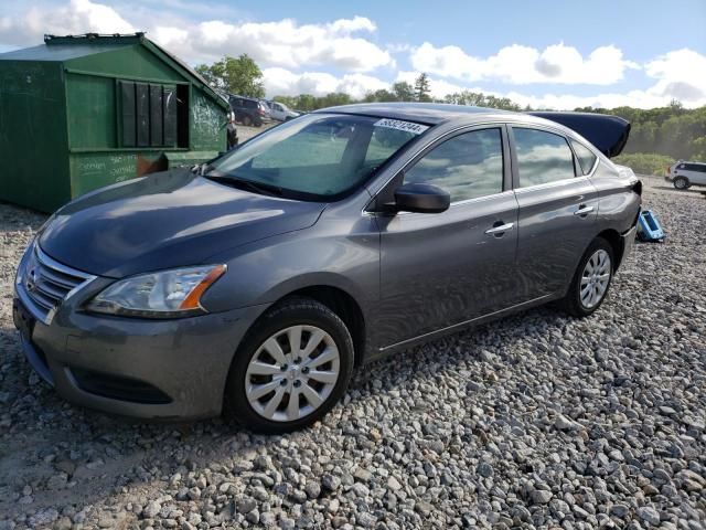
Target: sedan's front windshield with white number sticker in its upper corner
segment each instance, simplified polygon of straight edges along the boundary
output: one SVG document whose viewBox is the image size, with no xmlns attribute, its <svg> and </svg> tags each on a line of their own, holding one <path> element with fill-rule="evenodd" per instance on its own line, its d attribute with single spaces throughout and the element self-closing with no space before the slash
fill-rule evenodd
<svg viewBox="0 0 706 530">
<path fill-rule="evenodd" d="M 357 188 L 427 126 L 370 116 L 310 114 L 214 160 L 206 177 L 282 197 L 332 200 Z M 256 184 L 256 186 L 253 186 Z"/>
</svg>

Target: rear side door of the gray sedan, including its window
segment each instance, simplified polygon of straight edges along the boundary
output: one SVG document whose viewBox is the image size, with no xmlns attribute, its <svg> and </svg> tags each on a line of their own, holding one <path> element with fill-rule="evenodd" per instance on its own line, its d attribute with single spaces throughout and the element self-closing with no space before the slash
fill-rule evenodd
<svg viewBox="0 0 706 530">
<path fill-rule="evenodd" d="M 510 134 L 520 294 L 528 301 L 563 293 L 596 236 L 599 198 L 588 174 L 597 159 L 582 169 L 567 138 L 550 128 L 512 126 Z"/>
</svg>

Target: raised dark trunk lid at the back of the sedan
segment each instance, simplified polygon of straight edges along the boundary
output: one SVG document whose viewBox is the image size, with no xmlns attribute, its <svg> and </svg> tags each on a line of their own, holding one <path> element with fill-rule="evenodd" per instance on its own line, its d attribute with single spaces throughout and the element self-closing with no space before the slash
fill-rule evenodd
<svg viewBox="0 0 706 530">
<path fill-rule="evenodd" d="M 592 113 L 527 113 L 575 130 L 608 158 L 620 155 L 630 137 L 630 121 L 618 116 Z"/>
</svg>

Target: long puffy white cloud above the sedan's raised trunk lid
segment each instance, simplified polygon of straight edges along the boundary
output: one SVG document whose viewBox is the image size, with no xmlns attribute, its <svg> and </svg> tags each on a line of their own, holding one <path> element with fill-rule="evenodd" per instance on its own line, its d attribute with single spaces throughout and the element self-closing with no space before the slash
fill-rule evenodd
<svg viewBox="0 0 706 530">
<path fill-rule="evenodd" d="M 588 57 L 564 43 L 535 47 L 513 44 L 495 55 L 475 57 L 458 46 L 436 47 L 425 42 L 413 50 L 415 70 L 466 82 L 501 81 L 512 84 L 561 83 L 610 85 L 623 78 L 625 68 L 638 65 L 625 61 L 616 46 L 601 46 Z"/>
</svg>

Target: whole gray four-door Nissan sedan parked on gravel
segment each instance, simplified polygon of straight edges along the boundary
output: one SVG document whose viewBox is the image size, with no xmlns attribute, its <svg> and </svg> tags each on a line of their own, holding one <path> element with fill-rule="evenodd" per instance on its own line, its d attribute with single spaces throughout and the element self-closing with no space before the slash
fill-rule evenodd
<svg viewBox="0 0 706 530">
<path fill-rule="evenodd" d="M 589 316 L 634 241 L 641 183 L 603 155 L 627 123 L 549 118 L 335 107 L 86 194 L 19 266 L 26 357 L 81 405 L 278 433 L 383 356 L 555 300 Z"/>
</svg>

